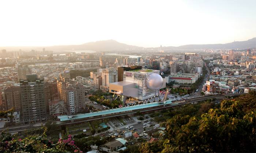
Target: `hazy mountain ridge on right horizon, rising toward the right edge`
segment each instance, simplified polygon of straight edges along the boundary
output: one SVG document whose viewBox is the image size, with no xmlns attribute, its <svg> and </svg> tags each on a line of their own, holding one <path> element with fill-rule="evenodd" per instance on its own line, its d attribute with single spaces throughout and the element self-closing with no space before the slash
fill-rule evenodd
<svg viewBox="0 0 256 153">
<path fill-rule="evenodd" d="M 248 49 L 256 47 L 256 38 L 248 41 L 235 41 L 226 44 L 183 45 L 162 47 L 163 50 L 202 50 L 202 49 Z"/>
</svg>

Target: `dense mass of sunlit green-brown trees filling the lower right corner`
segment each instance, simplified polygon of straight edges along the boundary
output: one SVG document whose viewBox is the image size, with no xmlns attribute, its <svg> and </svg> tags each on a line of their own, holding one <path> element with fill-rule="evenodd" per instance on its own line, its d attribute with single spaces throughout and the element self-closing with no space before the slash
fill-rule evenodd
<svg viewBox="0 0 256 153">
<path fill-rule="evenodd" d="M 239 101 L 224 100 L 219 107 L 205 102 L 196 107 L 188 105 L 172 110 L 169 114 L 172 117 L 165 123 L 165 139 L 155 142 L 157 145 L 143 144 L 139 150 L 162 153 L 255 152 L 255 102 L 248 101 L 255 99 L 255 95 L 251 92 L 237 98 Z M 154 150 L 155 146 L 160 146 L 160 149 Z"/>
</svg>

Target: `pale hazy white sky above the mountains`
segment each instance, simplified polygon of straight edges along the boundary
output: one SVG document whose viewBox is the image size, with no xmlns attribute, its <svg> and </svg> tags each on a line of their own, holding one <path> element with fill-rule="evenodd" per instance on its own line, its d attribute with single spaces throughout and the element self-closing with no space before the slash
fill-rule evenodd
<svg viewBox="0 0 256 153">
<path fill-rule="evenodd" d="M 1 0 L 0 46 L 114 39 L 143 47 L 256 37 L 256 0 Z"/>
</svg>

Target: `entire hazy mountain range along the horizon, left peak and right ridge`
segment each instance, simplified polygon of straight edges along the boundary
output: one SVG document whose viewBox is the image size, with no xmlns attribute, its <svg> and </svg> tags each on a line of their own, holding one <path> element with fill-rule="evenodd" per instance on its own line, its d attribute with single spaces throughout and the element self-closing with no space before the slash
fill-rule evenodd
<svg viewBox="0 0 256 153">
<path fill-rule="evenodd" d="M 205 45 L 183 45 L 183 46 L 167 46 L 162 47 L 163 50 L 202 50 L 202 49 L 248 49 L 256 47 L 256 38 L 249 39 L 248 41 L 236 41 L 226 44 L 205 44 Z M 127 45 L 125 43 L 120 43 L 114 40 L 106 40 L 106 41 L 96 41 L 96 42 L 88 42 L 82 45 L 60 45 L 60 46 L 41 46 L 41 47 L 33 47 L 33 46 L 21 46 L 21 47 L 0 47 L 1 49 L 6 49 L 8 51 L 11 50 L 42 50 L 45 48 L 46 50 L 53 51 L 71 51 L 71 50 L 93 50 L 93 51 L 102 51 L 102 50 L 142 50 L 142 49 L 155 49 L 158 50 L 159 47 L 154 48 L 144 48 L 139 46 Z"/>
</svg>

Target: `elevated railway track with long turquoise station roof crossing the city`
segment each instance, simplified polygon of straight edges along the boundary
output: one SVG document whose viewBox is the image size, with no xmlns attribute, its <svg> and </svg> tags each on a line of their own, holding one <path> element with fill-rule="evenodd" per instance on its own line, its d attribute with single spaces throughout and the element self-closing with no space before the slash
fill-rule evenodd
<svg viewBox="0 0 256 153">
<path fill-rule="evenodd" d="M 152 112 L 152 111 L 163 110 L 163 109 L 167 109 L 170 107 L 180 106 L 180 105 L 184 105 L 184 104 L 188 104 L 188 103 L 195 103 L 195 102 L 199 102 L 202 100 L 207 100 L 207 99 L 212 99 L 212 98 L 222 99 L 227 96 L 239 96 L 242 94 L 244 94 L 244 93 L 196 97 L 196 98 L 185 99 L 185 100 L 176 100 L 176 101 L 166 100 L 166 101 L 162 101 L 162 102 L 155 102 L 155 103 L 141 104 L 141 105 L 130 106 L 130 107 L 123 107 L 123 108 L 129 108 L 124 111 L 122 111 L 121 108 L 116 108 L 113 110 L 91 112 L 91 113 L 86 113 L 86 114 L 63 115 L 67 118 L 68 118 L 68 116 L 81 116 L 81 118 L 69 118 L 65 121 L 61 121 L 61 119 L 60 119 L 60 121 L 54 121 L 54 122 L 60 126 L 61 125 L 70 125 L 70 124 L 81 123 L 81 122 L 86 122 L 86 121 L 94 121 L 94 120 L 98 120 L 98 119 L 111 118 L 111 117 L 115 117 L 115 116 L 134 114 L 138 111 Z M 140 109 L 134 109 L 134 107 L 138 107 L 138 106 L 143 106 L 143 107 L 141 107 Z M 120 110 L 120 111 L 116 111 L 116 110 Z M 102 112 L 105 112 L 105 113 L 102 114 Z M 94 115 L 92 115 L 92 114 L 94 114 Z M 87 115 L 87 116 L 84 116 L 84 115 Z M 24 130 L 28 130 L 28 129 L 37 129 L 40 127 L 41 126 L 39 125 L 39 123 L 37 123 L 34 125 L 30 124 L 30 125 L 0 128 L 0 131 L 7 130 L 6 132 L 14 133 L 14 132 L 24 131 Z"/>
</svg>

